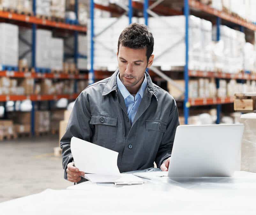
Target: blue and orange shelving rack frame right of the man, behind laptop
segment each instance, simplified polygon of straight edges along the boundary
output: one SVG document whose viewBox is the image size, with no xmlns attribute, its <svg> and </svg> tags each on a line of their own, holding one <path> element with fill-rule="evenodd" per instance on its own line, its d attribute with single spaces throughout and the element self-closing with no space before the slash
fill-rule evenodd
<svg viewBox="0 0 256 215">
<path fill-rule="evenodd" d="M 148 14 L 152 16 L 157 16 L 155 11 L 160 12 L 162 15 L 180 15 L 180 11 L 176 10 L 171 10 L 166 6 L 161 6 L 159 5 L 162 3 L 164 0 L 158 0 L 158 1 L 149 1 L 149 0 L 144 0 L 144 5 L 143 5 L 143 14 L 145 18 L 145 24 L 147 24 L 147 19 L 148 19 Z M 150 6 L 149 6 L 150 5 Z M 141 3 L 134 3 L 133 6 L 137 9 L 141 9 Z M 159 10 L 161 8 L 162 10 Z M 254 74 L 248 74 L 248 73 L 242 73 L 242 74 L 230 74 L 230 73 L 215 73 L 215 72 L 208 72 L 208 71 L 194 71 L 194 70 L 189 70 L 188 69 L 188 62 L 189 62 L 189 56 L 188 56 L 188 51 L 189 51 L 189 14 L 190 14 L 190 8 L 195 9 L 198 11 L 202 11 L 207 13 L 208 15 L 213 15 L 216 17 L 216 25 L 217 25 L 217 40 L 220 40 L 220 24 L 221 24 L 221 19 L 224 19 L 228 22 L 238 24 L 240 25 L 240 31 L 244 31 L 244 27 L 255 31 L 256 30 L 256 25 L 247 22 L 245 20 L 242 20 L 240 18 L 234 17 L 228 13 L 225 13 L 223 11 L 219 11 L 216 9 L 213 9 L 209 7 L 208 5 L 202 4 L 199 1 L 196 0 L 184 0 L 183 4 L 183 11 L 184 11 L 184 16 L 185 16 L 185 45 L 186 45 L 186 56 L 185 56 L 185 66 L 184 66 L 184 80 L 185 80 L 185 90 L 183 88 L 177 86 L 181 91 L 184 92 L 184 104 L 183 104 L 183 109 L 184 109 L 184 122 L 185 124 L 188 124 L 188 117 L 189 117 L 189 108 L 191 106 L 201 106 L 201 105 L 217 105 L 217 121 L 216 123 L 219 124 L 221 120 L 221 105 L 222 104 L 227 104 L 227 103 L 233 103 L 234 98 L 233 97 L 226 97 L 226 98 L 189 98 L 188 97 L 188 82 L 189 82 L 189 77 L 207 77 L 211 78 L 214 77 L 216 79 L 216 86 L 217 88 L 219 87 L 219 80 L 220 79 L 237 79 L 237 80 L 256 80 L 256 76 Z M 162 77 L 164 80 L 170 81 L 173 83 L 175 86 L 177 85 L 176 83 L 173 82 L 166 74 L 162 73 L 158 69 L 152 67 L 152 70 L 157 73 L 160 77 Z"/>
</svg>

